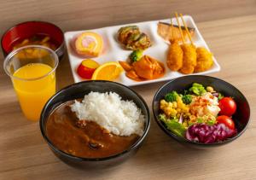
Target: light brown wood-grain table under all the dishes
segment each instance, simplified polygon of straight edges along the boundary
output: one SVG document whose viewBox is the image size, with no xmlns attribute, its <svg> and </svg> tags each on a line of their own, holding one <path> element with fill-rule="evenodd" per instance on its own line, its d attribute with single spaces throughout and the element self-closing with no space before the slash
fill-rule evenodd
<svg viewBox="0 0 256 180">
<path fill-rule="evenodd" d="M 0 179 L 255 179 L 256 178 L 256 3 L 247 1 L 11 1 L 0 6 L 0 34 L 25 20 L 51 21 L 64 31 L 168 18 L 175 10 L 192 15 L 221 71 L 251 106 L 251 123 L 222 148 L 184 148 L 151 119 L 148 140 L 130 160 L 102 171 L 74 169 L 52 154 L 38 123 L 20 112 L 10 79 L 0 69 Z M 3 55 L 0 61 L 3 62 Z M 73 84 L 67 56 L 57 69 L 58 87 Z M 160 85 L 133 87 L 151 109 Z M 150 88 L 148 88 L 150 87 Z"/>
</svg>

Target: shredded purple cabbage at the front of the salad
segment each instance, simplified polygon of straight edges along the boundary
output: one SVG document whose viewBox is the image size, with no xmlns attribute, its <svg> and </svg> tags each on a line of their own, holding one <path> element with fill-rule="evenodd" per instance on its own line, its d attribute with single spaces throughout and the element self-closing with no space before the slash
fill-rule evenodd
<svg viewBox="0 0 256 180">
<path fill-rule="evenodd" d="M 236 130 L 231 130 L 224 124 L 206 125 L 204 123 L 191 125 L 186 131 L 186 138 L 193 142 L 213 143 L 222 142 L 235 136 Z"/>
</svg>

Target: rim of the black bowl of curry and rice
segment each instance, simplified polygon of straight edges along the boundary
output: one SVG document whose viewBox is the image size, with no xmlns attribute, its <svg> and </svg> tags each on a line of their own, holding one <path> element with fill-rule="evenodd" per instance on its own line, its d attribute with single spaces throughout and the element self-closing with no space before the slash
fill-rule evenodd
<svg viewBox="0 0 256 180">
<path fill-rule="evenodd" d="M 102 157 L 102 158 L 82 158 L 82 157 L 78 157 L 78 156 L 74 156 L 72 154 L 67 154 L 65 153 L 64 151 L 60 150 L 59 148 L 56 148 L 55 145 L 49 140 L 49 138 L 46 136 L 45 132 L 44 132 L 44 125 L 43 125 L 43 114 L 45 112 L 45 109 L 46 107 L 48 107 L 49 103 L 52 101 L 52 99 L 55 98 L 55 96 L 58 96 L 63 90 L 67 90 L 77 84 L 88 84 L 88 83 L 91 83 L 91 82 L 96 82 L 96 83 L 111 83 L 111 84 L 117 84 L 119 86 L 122 86 L 124 88 L 127 88 L 129 90 L 131 90 L 131 88 L 125 86 L 124 84 L 119 84 L 117 82 L 113 82 L 113 81 L 106 81 L 106 80 L 88 80 L 88 81 L 82 81 L 82 82 L 79 82 L 79 83 L 75 83 L 75 84 L 71 84 L 71 85 L 68 85 L 66 87 L 64 87 L 63 89 L 59 90 L 58 92 L 55 93 L 54 96 L 51 96 L 49 98 L 49 101 L 46 102 L 46 104 L 44 105 L 44 108 L 42 110 L 42 113 L 40 115 L 40 122 L 39 122 L 39 125 L 40 125 L 40 131 L 42 133 L 42 135 L 44 136 L 44 140 L 48 143 L 48 145 L 50 146 L 50 148 L 52 148 L 55 152 L 63 155 L 63 156 L 66 156 L 68 158 L 71 158 L 73 160 L 81 160 L 81 161 L 105 161 L 105 160 L 111 160 L 111 159 L 114 159 L 114 158 L 117 158 L 117 157 L 120 157 L 124 154 L 127 154 L 129 153 L 131 150 L 137 148 L 137 146 L 139 146 L 143 140 L 145 139 L 145 137 L 147 136 L 148 134 L 148 131 L 149 131 L 149 127 L 150 127 L 150 113 L 149 113 L 149 109 L 148 109 L 148 105 L 147 103 L 143 100 L 143 97 L 140 96 L 139 94 L 137 94 L 137 92 L 135 90 L 131 90 L 134 94 L 137 95 L 137 97 L 140 99 L 140 101 L 143 102 L 145 108 L 146 108 L 146 112 L 148 113 L 148 119 L 145 119 L 145 122 L 148 122 L 148 125 L 145 126 L 145 130 L 143 131 L 143 135 L 140 136 L 140 138 L 137 140 L 137 142 L 133 143 L 129 148 L 125 149 L 125 151 L 119 153 L 119 154 L 114 154 L 114 155 L 111 155 L 111 156 L 108 156 L 108 157 Z"/>
</svg>

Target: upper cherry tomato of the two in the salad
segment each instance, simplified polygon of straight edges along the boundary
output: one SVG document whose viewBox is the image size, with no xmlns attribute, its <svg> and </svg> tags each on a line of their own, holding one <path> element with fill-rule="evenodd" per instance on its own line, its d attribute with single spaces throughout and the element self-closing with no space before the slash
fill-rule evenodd
<svg viewBox="0 0 256 180">
<path fill-rule="evenodd" d="M 224 97 L 218 102 L 219 114 L 231 116 L 236 112 L 236 102 L 231 97 Z"/>
</svg>

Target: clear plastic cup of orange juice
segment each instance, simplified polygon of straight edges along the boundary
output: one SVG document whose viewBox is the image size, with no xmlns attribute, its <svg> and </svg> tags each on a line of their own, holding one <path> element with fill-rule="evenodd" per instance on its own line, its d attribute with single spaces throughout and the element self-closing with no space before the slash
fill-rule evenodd
<svg viewBox="0 0 256 180">
<path fill-rule="evenodd" d="M 26 119 L 37 121 L 44 104 L 55 94 L 55 70 L 59 60 L 55 51 L 39 45 L 12 51 L 3 68 L 12 79 Z"/>
</svg>

